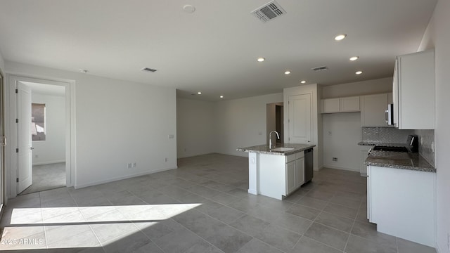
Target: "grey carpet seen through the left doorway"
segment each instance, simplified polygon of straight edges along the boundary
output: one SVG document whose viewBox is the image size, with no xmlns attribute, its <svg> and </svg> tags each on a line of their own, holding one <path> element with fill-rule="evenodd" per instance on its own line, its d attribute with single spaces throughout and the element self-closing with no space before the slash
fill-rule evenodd
<svg viewBox="0 0 450 253">
<path fill-rule="evenodd" d="M 65 162 L 33 166 L 33 183 L 20 195 L 65 186 Z"/>
</svg>

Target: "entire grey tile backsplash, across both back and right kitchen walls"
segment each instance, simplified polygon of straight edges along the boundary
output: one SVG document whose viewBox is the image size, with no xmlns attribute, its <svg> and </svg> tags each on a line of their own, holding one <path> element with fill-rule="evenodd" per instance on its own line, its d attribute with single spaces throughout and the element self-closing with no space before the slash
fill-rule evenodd
<svg viewBox="0 0 450 253">
<path fill-rule="evenodd" d="M 433 167 L 435 152 L 432 145 L 435 141 L 435 130 L 399 130 L 394 127 L 362 127 L 362 141 L 371 143 L 406 143 L 409 134 L 419 138 L 419 153 Z"/>
</svg>

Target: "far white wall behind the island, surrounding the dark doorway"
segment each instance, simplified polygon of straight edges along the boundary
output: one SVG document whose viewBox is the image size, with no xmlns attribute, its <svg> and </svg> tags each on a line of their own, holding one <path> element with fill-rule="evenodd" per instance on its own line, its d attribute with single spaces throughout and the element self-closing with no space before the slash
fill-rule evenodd
<svg viewBox="0 0 450 253">
<path fill-rule="evenodd" d="M 247 157 L 236 148 L 266 143 L 266 104 L 283 101 L 283 93 L 217 103 L 217 153 Z"/>
</svg>

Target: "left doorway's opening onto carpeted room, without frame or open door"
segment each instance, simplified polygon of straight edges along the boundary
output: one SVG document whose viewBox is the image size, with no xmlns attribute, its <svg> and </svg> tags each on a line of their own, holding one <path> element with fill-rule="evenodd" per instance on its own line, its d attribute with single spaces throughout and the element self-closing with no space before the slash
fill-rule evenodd
<svg viewBox="0 0 450 253">
<path fill-rule="evenodd" d="M 31 89 L 32 184 L 19 194 L 65 187 L 65 87 L 21 83 Z"/>
</svg>

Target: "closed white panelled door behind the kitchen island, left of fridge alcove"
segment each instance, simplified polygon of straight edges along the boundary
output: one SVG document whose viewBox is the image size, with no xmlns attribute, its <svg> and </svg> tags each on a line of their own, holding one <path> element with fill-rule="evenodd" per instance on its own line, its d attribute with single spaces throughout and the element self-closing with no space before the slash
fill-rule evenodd
<svg viewBox="0 0 450 253">
<path fill-rule="evenodd" d="M 310 144 L 311 141 L 311 94 L 289 96 L 289 143 Z"/>
</svg>

